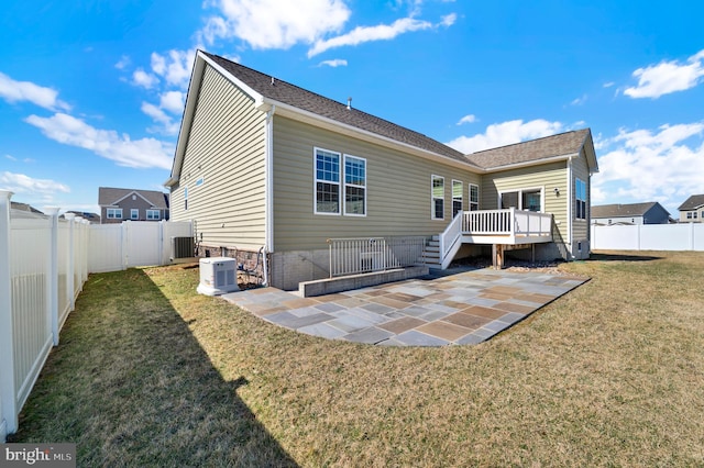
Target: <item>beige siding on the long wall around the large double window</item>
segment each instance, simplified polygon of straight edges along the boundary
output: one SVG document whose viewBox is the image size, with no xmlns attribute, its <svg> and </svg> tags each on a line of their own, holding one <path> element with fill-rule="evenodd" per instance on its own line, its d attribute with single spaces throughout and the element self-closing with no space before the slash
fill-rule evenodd
<svg viewBox="0 0 704 468">
<path fill-rule="evenodd" d="M 314 213 L 316 147 L 366 159 L 365 216 Z M 431 220 L 432 175 L 446 180 L 444 220 Z M 452 216 L 452 179 L 465 191 L 480 181 L 469 170 L 275 115 L 274 250 L 327 248 L 334 237 L 439 234 Z M 463 202 L 468 210 L 466 194 Z"/>
</svg>

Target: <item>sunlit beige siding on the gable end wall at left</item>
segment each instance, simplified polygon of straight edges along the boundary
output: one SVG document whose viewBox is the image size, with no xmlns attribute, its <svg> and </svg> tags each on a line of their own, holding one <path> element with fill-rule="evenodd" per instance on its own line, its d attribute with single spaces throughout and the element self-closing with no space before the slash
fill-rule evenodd
<svg viewBox="0 0 704 468">
<path fill-rule="evenodd" d="M 258 249 L 265 243 L 264 165 L 265 114 L 207 66 L 172 193 L 172 220 L 195 220 L 204 245 Z M 202 185 L 196 186 L 200 178 Z"/>
</svg>

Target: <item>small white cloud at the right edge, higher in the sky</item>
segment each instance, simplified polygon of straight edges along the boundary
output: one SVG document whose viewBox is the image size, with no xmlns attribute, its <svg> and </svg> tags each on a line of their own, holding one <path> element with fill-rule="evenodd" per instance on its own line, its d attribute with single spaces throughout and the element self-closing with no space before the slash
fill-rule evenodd
<svg viewBox="0 0 704 468">
<path fill-rule="evenodd" d="M 686 64 L 678 60 L 661 62 L 638 68 L 632 76 L 638 86 L 626 88 L 624 94 L 631 98 L 657 99 L 663 94 L 694 88 L 704 77 L 704 49 L 688 58 Z"/>
</svg>

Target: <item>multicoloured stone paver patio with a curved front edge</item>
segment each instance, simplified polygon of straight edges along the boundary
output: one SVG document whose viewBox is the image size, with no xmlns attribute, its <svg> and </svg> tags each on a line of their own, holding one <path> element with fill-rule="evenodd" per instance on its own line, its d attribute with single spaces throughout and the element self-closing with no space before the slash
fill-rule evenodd
<svg viewBox="0 0 704 468">
<path fill-rule="evenodd" d="M 476 269 L 318 298 L 260 288 L 222 298 L 273 324 L 380 346 L 474 345 L 587 281 Z"/>
</svg>

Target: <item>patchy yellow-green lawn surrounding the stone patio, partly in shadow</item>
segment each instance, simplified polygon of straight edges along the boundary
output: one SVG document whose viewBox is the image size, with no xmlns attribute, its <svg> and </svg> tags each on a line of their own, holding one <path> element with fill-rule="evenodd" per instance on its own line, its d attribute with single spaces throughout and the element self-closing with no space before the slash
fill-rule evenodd
<svg viewBox="0 0 704 468">
<path fill-rule="evenodd" d="M 388 348 L 91 275 L 10 442 L 79 466 L 704 466 L 704 253 L 603 253 L 477 346 Z"/>
</svg>

